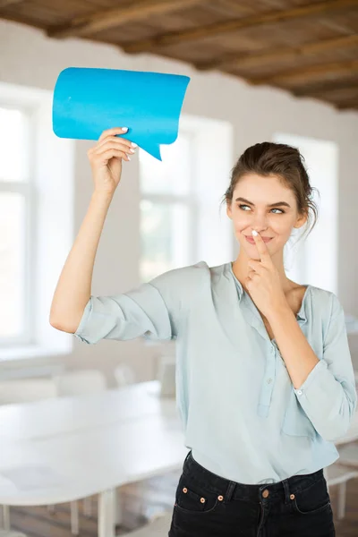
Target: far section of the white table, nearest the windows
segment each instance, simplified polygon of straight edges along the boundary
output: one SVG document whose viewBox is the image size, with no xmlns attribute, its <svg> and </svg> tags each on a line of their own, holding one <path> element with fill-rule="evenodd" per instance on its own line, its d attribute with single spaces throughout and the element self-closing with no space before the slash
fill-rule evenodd
<svg viewBox="0 0 358 537">
<path fill-rule="evenodd" d="M 148 415 L 176 415 L 175 400 L 159 397 L 157 380 L 95 395 L 0 406 L 0 440 L 38 439 L 103 427 Z"/>
</svg>

